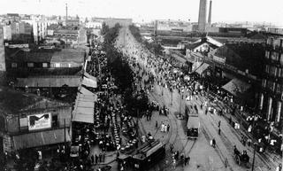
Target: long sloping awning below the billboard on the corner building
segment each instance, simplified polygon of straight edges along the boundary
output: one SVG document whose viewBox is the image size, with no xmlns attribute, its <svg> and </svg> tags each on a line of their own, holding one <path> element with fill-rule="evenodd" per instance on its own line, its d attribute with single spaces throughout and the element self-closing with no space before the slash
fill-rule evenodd
<svg viewBox="0 0 283 171">
<path fill-rule="evenodd" d="M 64 128 L 13 136 L 15 150 L 60 144 L 64 143 L 65 140 L 66 142 L 70 142 L 71 138 L 67 129 L 64 134 Z"/>
</svg>

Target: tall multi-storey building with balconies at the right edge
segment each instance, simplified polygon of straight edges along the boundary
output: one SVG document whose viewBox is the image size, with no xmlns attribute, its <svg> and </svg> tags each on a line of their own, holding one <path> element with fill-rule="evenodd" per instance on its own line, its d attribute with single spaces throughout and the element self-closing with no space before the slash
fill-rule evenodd
<svg viewBox="0 0 283 171">
<path fill-rule="evenodd" d="M 283 35 L 269 35 L 266 44 L 258 109 L 264 119 L 273 122 L 280 130 L 283 120 Z"/>
</svg>

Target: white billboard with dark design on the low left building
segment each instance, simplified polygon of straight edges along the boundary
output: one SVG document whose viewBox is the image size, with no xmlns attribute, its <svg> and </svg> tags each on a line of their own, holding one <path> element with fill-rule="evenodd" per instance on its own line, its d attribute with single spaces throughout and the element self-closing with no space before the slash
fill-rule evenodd
<svg viewBox="0 0 283 171">
<path fill-rule="evenodd" d="M 28 115 L 27 124 L 28 130 L 51 128 L 51 113 Z"/>
</svg>

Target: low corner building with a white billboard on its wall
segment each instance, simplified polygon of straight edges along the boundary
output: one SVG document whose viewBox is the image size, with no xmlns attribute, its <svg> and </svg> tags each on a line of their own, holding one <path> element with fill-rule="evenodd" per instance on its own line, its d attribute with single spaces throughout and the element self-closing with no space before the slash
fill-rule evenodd
<svg viewBox="0 0 283 171">
<path fill-rule="evenodd" d="M 0 156 L 70 142 L 71 105 L 3 87 L 0 96 Z"/>
</svg>

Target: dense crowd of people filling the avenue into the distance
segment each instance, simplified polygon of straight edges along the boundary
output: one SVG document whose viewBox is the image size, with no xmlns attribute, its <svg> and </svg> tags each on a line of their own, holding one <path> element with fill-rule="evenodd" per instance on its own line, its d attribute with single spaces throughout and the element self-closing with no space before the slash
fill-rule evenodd
<svg viewBox="0 0 283 171">
<path fill-rule="evenodd" d="M 133 37 L 127 38 L 131 39 Z M 132 40 L 132 42 L 134 42 L 134 40 Z M 232 115 L 241 113 L 242 106 L 235 105 L 233 96 L 220 89 L 220 85 L 209 82 L 209 79 L 202 78 L 197 74 L 183 74 L 180 69 L 172 66 L 170 58 L 155 56 L 148 50 L 144 50 L 142 45 L 137 43 L 127 43 L 125 47 L 122 48 L 122 51 L 124 55 L 130 59 L 130 64 L 135 67 L 136 74 L 142 74 L 142 77 L 148 77 L 148 81 L 144 81 L 145 89 L 150 90 L 152 89 L 152 84 L 157 83 L 162 89 L 169 89 L 171 92 L 177 90 L 182 98 L 185 97 L 186 99 L 191 99 L 191 97 L 195 95 L 207 97 L 206 99 L 208 99 L 208 101 L 204 102 L 206 105 L 202 104 L 203 106 L 206 106 L 206 113 L 212 112 L 221 116 L 224 116 L 226 113 L 231 113 Z M 139 78 L 139 80 L 141 80 L 141 78 Z M 226 104 L 222 105 L 222 109 L 218 110 L 216 107 L 211 107 L 212 103 L 218 104 L 219 101 Z M 260 116 L 254 114 L 250 117 L 251 118 L 247 119 L 249 122 L 249 129 L 255 130 L 255 128 L 251 128 L 254 126 L 252 125 L 254 123 L 253 121 L 255 118 L 260 119 Z M 234 120 L 231 120 L 230 123 L 233 125 L 233 128 L 240 129 L 240 123 L 235 122 Z M 253 133 L 255 133 L 255 131 L 253 131 Z M 220 127 L 218 127 L 218 134 L 221 135 Z M 261 137 L 258 138 L 258 141 L 263 142 L 266 138 L 270 137 L 262 134 Z M 250 141 L 251 139 L 247 138 L 243 141 L 243 144 L 245 144 L 245 142 L 249 142 L 250 144 Z M 271 139 L 269 139 L 263 146 L 269 145 L 269 143 L 282 144 L 282 142 L 271 141 Z M 262 149 L 264 149 L 264 147 L 262 147 Z"/>
</svg>

